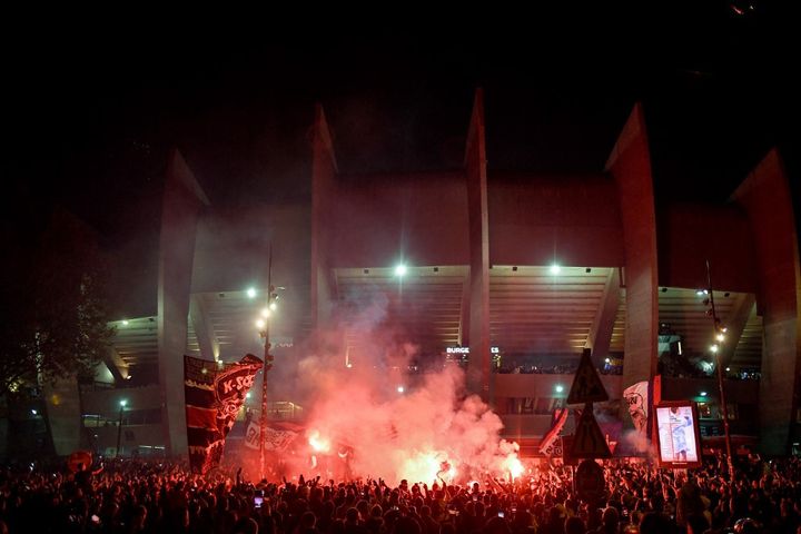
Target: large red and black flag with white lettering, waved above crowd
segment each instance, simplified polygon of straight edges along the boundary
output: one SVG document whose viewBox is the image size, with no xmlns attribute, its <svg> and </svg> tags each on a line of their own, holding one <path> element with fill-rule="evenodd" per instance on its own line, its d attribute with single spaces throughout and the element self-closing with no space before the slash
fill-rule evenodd
<svg viewBox="0 0 801 534">
<path fill-rule="evenodd" d="M 206 474 L 219 464 L 228 431 L 261 366 L 253 354 L 224 365 L 184 356 L 187 443 L 194 473 Z"/>
</svg>

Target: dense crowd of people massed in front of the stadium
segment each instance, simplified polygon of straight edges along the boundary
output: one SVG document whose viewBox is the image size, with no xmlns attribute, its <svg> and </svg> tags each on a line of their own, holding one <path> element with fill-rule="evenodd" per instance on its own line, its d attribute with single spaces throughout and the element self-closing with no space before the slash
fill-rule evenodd
<svg viewBox="0 0 801 534">
<path fill-rule="evenodd" d="M 377 453 L 378 454 L 378 453 Z M 801 533 L 801 461 L 721 458 L 691 472 L 610 461 L 605 495 L 586 502 L 572 468 L 462 485 L 298 476 L 246 482 L 181 463 L 111 461 L 78 472 L 0 472 L 0 533 Z"/>
</svg>

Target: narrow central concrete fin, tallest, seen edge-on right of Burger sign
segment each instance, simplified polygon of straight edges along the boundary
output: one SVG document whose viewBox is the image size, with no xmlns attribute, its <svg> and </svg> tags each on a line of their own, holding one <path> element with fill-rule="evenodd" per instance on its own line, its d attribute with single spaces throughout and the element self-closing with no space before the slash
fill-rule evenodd
<svg viewBox="0 0 801 534">
<path fill-rule="evenodd" d="M 477 89 L 473 101 L 467 148 L 467 210 L 469 238 L 469 329 L 468 384 L 484 402 L 490 402 L 492 380 L 490 354 L 490 227 L 486 179 L 486 139 L 484 91 Z"/>
</svg>

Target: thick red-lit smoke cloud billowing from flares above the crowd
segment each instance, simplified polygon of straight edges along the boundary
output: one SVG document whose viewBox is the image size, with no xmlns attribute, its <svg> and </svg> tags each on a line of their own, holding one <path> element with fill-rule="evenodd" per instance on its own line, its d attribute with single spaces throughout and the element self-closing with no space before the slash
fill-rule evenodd
<svg viewBox="0 0 801 534">
<path fill-rule="evenodd" d="M 517 445 L 502 441 L 501 418 L 466 394 L 464 372 L 447 364 L 409 375 L 418 347 L 388 318 L 386 300 L 359 304 L 297 364 L 307 427 L 298 441 L 315 454 L 312 465 L 347 463 L 352 476 L 392 483 L 520 474 Z M 358 347 L 350 366 L 347 346 Z"/>
</svg>

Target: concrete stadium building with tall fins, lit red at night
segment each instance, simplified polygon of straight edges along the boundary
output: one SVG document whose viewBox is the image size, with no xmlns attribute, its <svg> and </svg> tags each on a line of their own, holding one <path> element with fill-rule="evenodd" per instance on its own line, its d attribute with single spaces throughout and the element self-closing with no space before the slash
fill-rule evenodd
<svg viewBox="0 0 801 534">
<path fill-rule="evenodd" d="M 95 387 L 62 384 L 47 397 L 59 453 L 108 453 L 118 436 L 122 454 L 186 453 L 182 356 L 230 362 L 264 353 L 254 319 L 270 249 L 273 283 L 284 288 L 270 333 L 275 416 L 303 418 L 280 378 L 283 362 L 319 348 L 319 333 L 333 332 L 342 365 L 358 365 L 364 340 L 348 314 L 380 300 L 385 320 L 417 346 L 421 360 L 468 353 L 468 386 L 498 412 L 504 437 L 535 443 L 546 432 L 585 348 L 613 399 L 662 374 L 663 398 L 702 403 L 702 426 L 718 435 L 714 327 L 698 294 L 709 287 L 709 261 L 728 327 L 719 356 L 732 432 L 759 436 L 768 454 L 801 441 L 801 274 L 777 150 L 725 204 L 657 208 L 639 105 L 606 166 L 586 175 L 488 170 L 481 90 L 458 170 L 340 174 L 332 134 L 318 107 L 310 205 L 220 209 L 191 161 L 174 152 L 157 313 L 115 322 L 115 346 Z M 403 277 L 397 265 L 406 267 Z M 663 360 L 679 355 L 701 372 L 665 370 Z M 532 372 L 537 366 L 548 372 Z M 249 403 L 258 412 L 256 397 Z"/>
</svg>

